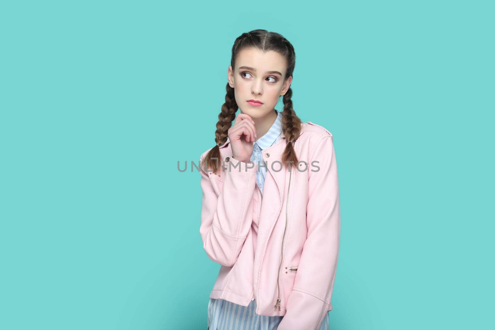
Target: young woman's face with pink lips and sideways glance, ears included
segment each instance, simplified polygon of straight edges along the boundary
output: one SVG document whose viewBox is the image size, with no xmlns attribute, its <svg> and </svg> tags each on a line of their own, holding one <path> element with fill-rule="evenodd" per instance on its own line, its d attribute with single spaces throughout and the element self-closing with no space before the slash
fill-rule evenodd
<svg viewBox="0 0 495 330">
<path fill-rule="evenodd" d="M 234 88 L 236 102 L 242 113 L 252 119 L 271 114 L 279 96 L 287 93 L 292 76 L 285 79 L 286 60 L 276 51 L 261 52 L 257 48 L 247 48 L 239 52 L 235 71 L 229 65 L 228 80 Z M 261 105 L 249 100 L 262 102 Z"/>
</svg>

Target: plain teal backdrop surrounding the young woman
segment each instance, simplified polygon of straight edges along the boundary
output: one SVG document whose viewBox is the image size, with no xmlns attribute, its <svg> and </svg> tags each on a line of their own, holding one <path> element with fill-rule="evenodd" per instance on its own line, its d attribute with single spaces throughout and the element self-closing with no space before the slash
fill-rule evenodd
<svg viewBox="0 0 495 330">
<path fill-rule="evenodd" d="M 230 51 L 334 135 L 332 330 L 493 327 L 493 1 L 3 1 L 0 328 L 206 329 L 198 162 Z M 281 109 L 282 103 L 278 108 Z"/>
</svg>

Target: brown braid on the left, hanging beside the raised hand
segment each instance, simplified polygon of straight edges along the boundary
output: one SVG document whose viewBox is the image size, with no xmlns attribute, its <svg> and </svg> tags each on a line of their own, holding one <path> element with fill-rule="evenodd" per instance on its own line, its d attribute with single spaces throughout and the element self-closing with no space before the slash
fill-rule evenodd
<svg viewBox="0 0 495 330">
<path fill-rule="evenodd" d="M 203 163 L 200 164 L 204 168 L 204 163 L 208 169 L 213 172 L 218 170 L 218 165 L 221 163 L 220 159 L 220 144 L 224 144 L 227 141 L 229 128 L 232 126 L 232 121 L 236 118 L 237 105 L 234 89 L 227 83 L 227 94 L 225 95 L 225 103 L 222 104 L 222 111 L 218 115 L 218 122 L 216 124 L 217 130 L 215 131 L 215 143 L 216 145 L 206 154 L 203 159 Z"/>
</svg>

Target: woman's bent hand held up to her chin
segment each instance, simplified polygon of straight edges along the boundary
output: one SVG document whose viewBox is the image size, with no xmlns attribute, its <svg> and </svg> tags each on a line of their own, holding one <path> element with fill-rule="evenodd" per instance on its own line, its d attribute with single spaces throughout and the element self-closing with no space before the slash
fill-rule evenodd
<svg viewBox="0 0 495 330">
<path fill-rule="evenodd" d="M 256 138 L 256 129 L 251 116 L 240 113 L 234 122 L 234 126 L 229 128 L 228 136 L 232 148 L 232 157 L 247 162 L 251 159 L 253 142 Z"/>
</svg>

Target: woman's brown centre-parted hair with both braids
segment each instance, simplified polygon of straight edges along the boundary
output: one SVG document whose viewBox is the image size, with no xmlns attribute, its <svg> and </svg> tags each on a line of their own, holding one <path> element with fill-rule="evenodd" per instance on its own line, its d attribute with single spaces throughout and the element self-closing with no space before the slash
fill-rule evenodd
<svg viewBox="0 0 495 330">
<path fill-rule="evenodd" d="M 282 35 L 275 32 L 268 32 L 266 30 L 252 30 L 248 33 L 243 33 L 234 42 L 232 47 L 232 57 L 230 63 L 232 69 L 235 68 L 235 62 L 238 53 L 245 48 L 257 48 L 261 51 L 273 50 L 280 53 L 287 60 L 287 71 L 285 79 L 291 77 L 296 66 L 296 53 L 292 44 L 285 39 Z M 217 165 L 221 164 L 220 159 L 220 145 L 227 141 L 228 130 L 232 126 L 232 121 L 236 118 L 237 109 L 239 106 L 236 103 L 234 96 L 234 89 L 230 87 L 227 82 L 227 94 L 225 95 L 225 103 L 222 104 L 222 111 L 218 115 L 218 122 L 216 124 L 215 142 L 216 145 L 206 154 L 203 159 L 203 163 L 200 164 L 201 168 L 204 168 L 204 162 L 206 162 L 206 168 L 216 172 L 218 170 Z M 299 137 L 301 130 L 301 120 L 297 117 L 296 112 L 292 108 L 292 89 L 289 87 L 287 93 L 283 96 L 284 111 L 282 112 L 282 132 L 286 140 L 288 141 L 284 153 L 282 154 L 282 162 L 289 165 L 289 161 L 292 161 L 293 165 L 297 163 L 296 151 L 294 150 L 293 143 Z"/>
</svg>

